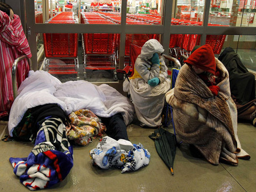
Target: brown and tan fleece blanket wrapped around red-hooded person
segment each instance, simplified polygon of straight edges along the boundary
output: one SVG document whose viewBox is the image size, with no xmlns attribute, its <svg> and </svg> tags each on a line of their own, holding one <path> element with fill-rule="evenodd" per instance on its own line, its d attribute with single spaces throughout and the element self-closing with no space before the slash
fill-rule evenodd
<svg viewBox="0 0 256 192">
<path fill-rule="evenodd" d="M 183 142 L 193 144 L 214 165 L 219 159 L 237 165 L 237 157 L 250 156 L 237 137 L 237 110 L 230 97 L 228 71 L 218 59 L 215 62 L 222 79 L 217 96 L 191 67 L 184 65 L 174 89 L 165 97 L 173 107 L 175 130 Z"/>
</svg>

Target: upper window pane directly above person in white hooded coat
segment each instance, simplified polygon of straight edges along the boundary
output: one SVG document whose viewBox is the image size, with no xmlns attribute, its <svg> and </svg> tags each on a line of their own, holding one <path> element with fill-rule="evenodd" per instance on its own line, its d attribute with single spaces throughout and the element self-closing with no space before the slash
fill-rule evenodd
<svg viewBox="0 0 256 192">
<path fill-rule="evenodd" d="M 127 25 L 160 25 L 162 0 L 127 0 Z"/>
</svg>

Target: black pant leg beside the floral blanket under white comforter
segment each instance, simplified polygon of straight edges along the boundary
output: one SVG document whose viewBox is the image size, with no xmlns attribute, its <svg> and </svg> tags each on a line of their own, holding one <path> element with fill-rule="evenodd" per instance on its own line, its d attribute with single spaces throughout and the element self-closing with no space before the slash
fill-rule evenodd
<svg viewBox="0 0 256 192">
<path fill-rule="evenodd" d="M 107 127 L 107 135 L 115 140 L 118 139 L 128 139 L 126 125 L 124 123 L 124 118 L 121 113 L 115 114 L 111 117 L 100 117 L 102 123 Z"/>
</svg>

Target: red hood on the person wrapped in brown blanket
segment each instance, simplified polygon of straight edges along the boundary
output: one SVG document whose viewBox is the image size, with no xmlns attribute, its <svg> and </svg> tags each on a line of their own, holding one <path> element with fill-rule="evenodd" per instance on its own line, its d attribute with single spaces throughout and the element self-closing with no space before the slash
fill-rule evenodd
<svg viewBox="0 0 256 192">
<path fill-rule="evenodd" d="M 216 63 L 215 57 L 210 45 L 202 45 L 196 49 L 185 61 L 190 65 L 196 66 L 204 71 L 208 71 L 215 75 Z"/>
</svg>

